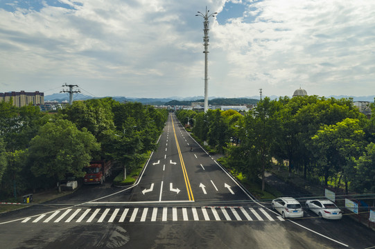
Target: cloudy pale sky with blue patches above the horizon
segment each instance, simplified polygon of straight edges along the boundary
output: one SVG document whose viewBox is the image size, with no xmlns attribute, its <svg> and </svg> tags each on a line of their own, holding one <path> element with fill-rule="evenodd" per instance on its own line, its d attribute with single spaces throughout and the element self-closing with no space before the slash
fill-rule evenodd
<svg viewBox="0 0 375 249">
<path fill-rule="evenodd" d="M 0 0 L 0 92 L 375 95 L 375 1 Z M 66 89 L 66 88 L 65 88 Z"/>
</svg>

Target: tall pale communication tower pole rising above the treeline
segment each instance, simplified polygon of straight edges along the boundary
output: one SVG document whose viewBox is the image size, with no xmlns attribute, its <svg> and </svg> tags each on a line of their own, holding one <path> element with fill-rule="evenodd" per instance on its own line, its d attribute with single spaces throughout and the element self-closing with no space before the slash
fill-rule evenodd
<svg viewBox="0 0 375 249">
<path fill-rule="evenodd" d="M 203 17 L 203 31 L 204 31 L 204 37 L 203 37 L 203 46 L 204 46 L 204 112 L 207 112 L 209 109 L 209 96 L 208 96 L 208 66 L 207 66 L 207 58 L 209 53 L 209 17 L 215 17 L 214 15 L 218 14 L 218 12 L 214 12 L 211 15 L 209 15 L 209 10 L 207 10 L 206 6 L 206 13 L 203 15 L 201 12 L 198 11 L 198 15 L 195 15 L 195 17 Z"/>
</svg>

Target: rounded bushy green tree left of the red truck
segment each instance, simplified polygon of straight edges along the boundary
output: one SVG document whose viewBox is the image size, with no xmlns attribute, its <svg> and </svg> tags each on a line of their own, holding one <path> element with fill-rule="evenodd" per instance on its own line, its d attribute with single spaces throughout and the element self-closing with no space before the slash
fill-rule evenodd
<svg viewBox="0 0 375 249">
<path fill-rule="evenodd" d="M 83 167 L 89 165 L 91 155 L 100 145 L 95 137 L 69 120 L 44 124 L 30 142 L 29 159 L 35 176 L 61 181 L 67 174 L 84 176 Z"/>
</svg>

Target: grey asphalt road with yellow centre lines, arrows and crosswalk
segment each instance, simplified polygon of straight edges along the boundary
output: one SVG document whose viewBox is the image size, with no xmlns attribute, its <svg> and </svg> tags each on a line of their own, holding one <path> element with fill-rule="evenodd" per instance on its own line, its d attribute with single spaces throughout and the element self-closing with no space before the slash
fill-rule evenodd
<svg viewBox="0 0 375 249">
<path fill-rule="evenodd" d="M 193 150 L 191 151 L 191 147 Z M 83 186 L 2 214 L 2 248 L 370 248 L 372 230 L 345 217 L 284 220 L 258 203 L 171 114 L 137 183 Z"/>
</svg>

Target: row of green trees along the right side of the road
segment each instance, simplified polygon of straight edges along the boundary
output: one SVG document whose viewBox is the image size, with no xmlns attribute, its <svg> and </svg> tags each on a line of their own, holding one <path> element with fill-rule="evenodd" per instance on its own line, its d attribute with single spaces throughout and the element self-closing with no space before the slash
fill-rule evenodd
<svg viewBox="0 0 375 249">
<path fill-rule="evenodd" d="M 261 176 L 263 189 L 273 158 L 288 165 L 290 174 L 345 185 L 347 191 L 375 191 L 375 116 L 368 119 L 350 99 L 265 98 L 244 116 L 181 110 L 177 117 L 191 121 L 200 140 L 224 151 L 229 167 L 248 178 Z M 228 146 L 229 138 L 241 146 Z"/>
</svg>

